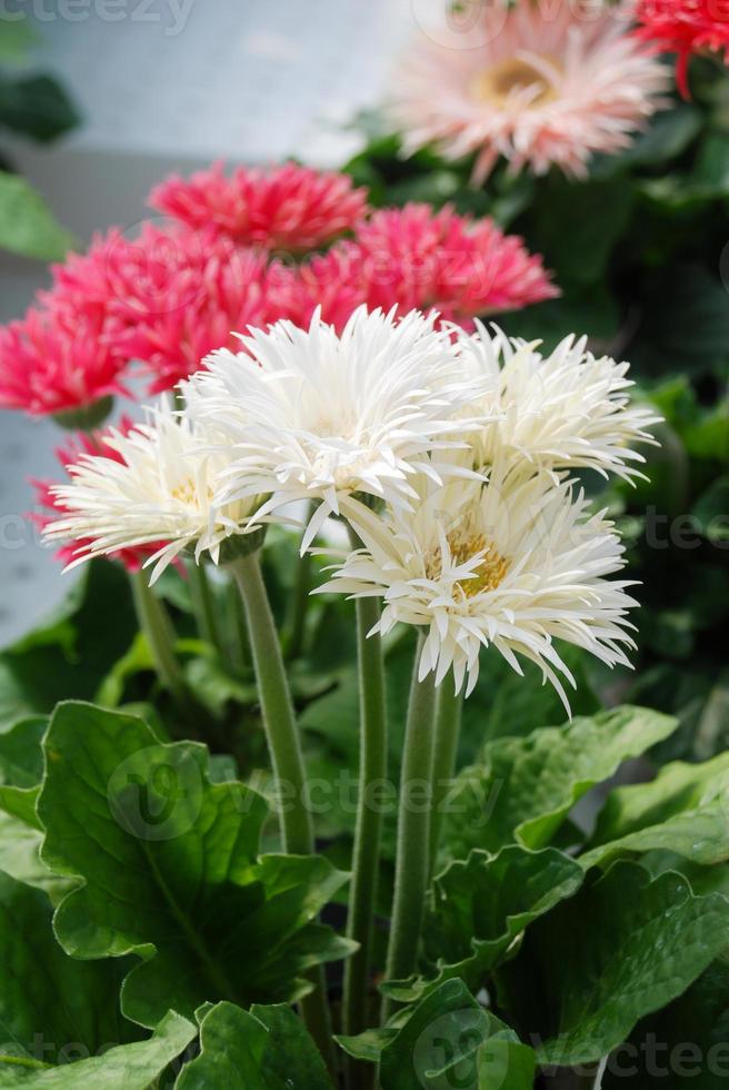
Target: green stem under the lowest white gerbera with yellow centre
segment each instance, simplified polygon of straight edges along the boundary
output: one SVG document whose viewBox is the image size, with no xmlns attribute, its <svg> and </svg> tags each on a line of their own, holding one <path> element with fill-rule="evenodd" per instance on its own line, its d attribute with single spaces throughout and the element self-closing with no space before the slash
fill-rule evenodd
<svg viewBox="0 0 729 1090">
<path fill-rule="evenodd" d="M 402 980 L 416 968 L 430 868 L 435 690 L 432 674 L 418 681 L 421 647 L 419 643 L 402 753 L 388 980 Z M 386 1003 L 386 1015 L 391 1008 Z"/>
</svg>

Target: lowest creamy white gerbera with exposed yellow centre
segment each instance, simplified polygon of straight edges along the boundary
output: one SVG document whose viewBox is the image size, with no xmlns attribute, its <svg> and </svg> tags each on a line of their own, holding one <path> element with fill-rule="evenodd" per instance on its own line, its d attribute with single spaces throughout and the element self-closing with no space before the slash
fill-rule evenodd
<svg viewBox="0 0 729 1090">
<path fill-rule="evenodd" d="M 468 675 L 470 693 L 479 652 L 493 645 L 518 673 L 517 655 L 537 663 L 569 712 L 558 674 L 575 682 L 553 640 L 628 665 L 626 614 L 637 603 L 629 583 L 607 578 L 623 567 L 622 546 L 571 485 L 495 467 L 486 484 L 423 482 L 415 512 L 380 516 L 349 501 L 347 515 L 363 547 L 321 589 L 381 597 L 373 631 L 423 630 L 421 678 L 435 671 L 440 684 L 452 668 L 456 690 Z"/>
</svg>

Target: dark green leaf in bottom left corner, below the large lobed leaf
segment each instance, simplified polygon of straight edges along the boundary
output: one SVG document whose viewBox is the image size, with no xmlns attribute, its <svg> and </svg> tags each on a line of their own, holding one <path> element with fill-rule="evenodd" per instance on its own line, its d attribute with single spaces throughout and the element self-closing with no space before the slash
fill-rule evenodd
<svg viewBox="0 0 729 1090">
<path fill-rule="evenodd" d="M 2 1057 L 63 1063 L 140 1036 L 119 1012 L 122 965 L 69 958 L 51 922 L 44 893 L 0 874 L 0 1086 L 16 1067 Z"/>
</svg>

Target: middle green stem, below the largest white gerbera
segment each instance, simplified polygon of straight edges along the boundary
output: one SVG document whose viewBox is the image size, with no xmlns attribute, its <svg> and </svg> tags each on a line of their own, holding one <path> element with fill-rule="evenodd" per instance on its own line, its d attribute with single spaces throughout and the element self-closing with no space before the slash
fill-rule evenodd
<svg viewBox="0 0 729 1090">
<path fill-rule="evenodd" d="M 368 1027 L 370 998 L 370 961 L 377 880 L 382 835 L 382 807 L 373 793 L 387 776 L 387 715 L 385 667 L 379 633 L 367 634 L 380 617 L 377 598 L 357 602 L 357 650 L 359 662 L 359 800 L 352 882 L 349 893 L 347 937 L 359 943 L 359 950 L 344 965 L 344 1033 L 356 1036 Z M 376 1013 L 372 1014 L 376 1021 Z"/>
</svg>

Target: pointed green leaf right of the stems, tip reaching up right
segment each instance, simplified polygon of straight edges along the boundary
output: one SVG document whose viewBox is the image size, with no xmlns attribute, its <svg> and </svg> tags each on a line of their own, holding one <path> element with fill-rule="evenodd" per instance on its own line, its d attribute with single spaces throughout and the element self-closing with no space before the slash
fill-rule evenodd
<svg viewBox="0 0 729 1090">
<path fill-rule="evenodd" d="M 483 763 L 459 775 L 448 801 L 448 851 L 466 859 L 473 848 L 498 851 L 515 840 L 543 848 L 590 787 L 676 726 L 667 715 L 628 706 L 490 743 Z"/>
</svg>

